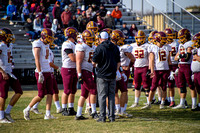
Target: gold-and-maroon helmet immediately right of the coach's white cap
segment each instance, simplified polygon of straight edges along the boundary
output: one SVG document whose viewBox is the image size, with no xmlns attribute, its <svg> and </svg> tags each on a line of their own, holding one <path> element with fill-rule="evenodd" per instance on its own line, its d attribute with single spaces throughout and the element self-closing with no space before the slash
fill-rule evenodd
<svg viewBox="0 0 200 133">
<path fill-rule="evenodd" d="M 110 39 L 115 45 L 122 46 L 124 45 L 125 36 L 121 30 L 113 30 Z"/>
</svg>

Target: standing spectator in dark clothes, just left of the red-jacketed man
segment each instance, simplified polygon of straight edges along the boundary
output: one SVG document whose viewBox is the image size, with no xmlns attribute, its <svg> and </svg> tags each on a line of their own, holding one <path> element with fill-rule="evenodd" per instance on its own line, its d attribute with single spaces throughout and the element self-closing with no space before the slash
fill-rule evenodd
<svg viewBox="0 0 200 133">
<path fill-rule="evenodd" d="M 56 4 L 54 5 L 53 7 L 53 10 L 52 10 L 52 15 L 53 15 L 53 18 L 54 19 L 57 19 L 58 20 L 58 23 L 61 25 L 62 27 L 62 20 L 61 20 L 61 9 L 60 9 L 60 2 L 57 1 Z"/>
</svg>

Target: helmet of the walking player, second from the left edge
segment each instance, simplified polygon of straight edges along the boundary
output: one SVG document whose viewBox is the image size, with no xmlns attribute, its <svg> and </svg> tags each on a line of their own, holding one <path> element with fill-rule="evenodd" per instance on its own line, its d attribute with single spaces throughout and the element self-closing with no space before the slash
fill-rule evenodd
<svg viewBox="0 0 200 133">
<path fill-rule="evenodd" d="M 48 28 L 44 28 L 42 31 L 41 31 L 41 38 L 43 39 L 43 42 L 45 44 L 52 44 L 53 41 L 54 41 L 54 33 L 48 29 Z"/>
</svg>

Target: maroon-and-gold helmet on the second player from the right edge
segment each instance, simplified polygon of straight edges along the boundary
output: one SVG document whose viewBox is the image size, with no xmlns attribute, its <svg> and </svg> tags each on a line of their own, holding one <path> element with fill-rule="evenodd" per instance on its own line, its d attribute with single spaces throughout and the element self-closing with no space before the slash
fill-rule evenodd
<svg viewBox="0 0 200 133">
<path fill-rule="evenodd" d="M 178 32 L 179 43 L 184 44 L 191 40 L 190 31 L 188 29 L 181 29 Z"/>
</svg>

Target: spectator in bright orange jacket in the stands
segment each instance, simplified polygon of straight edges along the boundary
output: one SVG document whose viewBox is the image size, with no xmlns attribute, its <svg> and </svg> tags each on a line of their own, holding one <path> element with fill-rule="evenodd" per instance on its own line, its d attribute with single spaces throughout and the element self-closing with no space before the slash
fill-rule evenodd
<svg viewBox="0 0 200 133">
<path fill-rule="evenodd" d="M 111 13 L 112 17 L 115 19 L 115 25 L 117 22 L 120 22 L 120 25 L 122 25 L 123 20 L 122 20 L 122 12 L 119 10 L 119 6 L 116 6 L 115 9 L 113 9 Z"/>
</svg>

